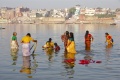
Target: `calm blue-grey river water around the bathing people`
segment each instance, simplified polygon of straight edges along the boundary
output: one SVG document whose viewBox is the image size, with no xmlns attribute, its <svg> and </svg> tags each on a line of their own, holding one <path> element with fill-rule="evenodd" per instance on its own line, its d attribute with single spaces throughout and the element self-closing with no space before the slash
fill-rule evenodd
<svg viewBox="0 0 120 80">
<path fill-rule="evenodd" d="M 107 24 L 0 24 L 0 80 L 120 80 L 120 25 Z M 65 31 L 74 33 L 76 51 L 75 64 L 69 67 L 63 62 L 64 46 L 61 35 Z M 91 51 L 85 51 L 84 35 L 89 30 L 94 37 Z M 19 51 L 10 51 L 10 38 L 17 32 Z M 20 70 L 24 65 L 20 40 L 27 33 L 38 40 L 35 57 L 30 57 L 30 74 Z M 106 48 L 105 32 L 112 35 L 114 45 Z M 47 55 L 42 46 L 52 38 L 61 50 Z M 31 43 L 33 45 L 33 43 Z M 33 49 L 31 50 L 33 51 Z M 79 64 L 79 60 L 89 54 L 101 63 Z M 51 61 L 49 61 L 51 58 Z"/>
</svg>

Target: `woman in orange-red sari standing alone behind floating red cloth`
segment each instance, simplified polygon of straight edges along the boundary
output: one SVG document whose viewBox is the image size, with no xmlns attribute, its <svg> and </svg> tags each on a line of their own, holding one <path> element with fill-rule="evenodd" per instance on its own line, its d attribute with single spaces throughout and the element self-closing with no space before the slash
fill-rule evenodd
<svg viewBox="0 0 120 80">
<path fill-rule="evenodd" d="M 85 50 L 91 49 L 91 41 L 93 41 L 93 36 L 87 30 L 85 33 Z"/>
</svg>

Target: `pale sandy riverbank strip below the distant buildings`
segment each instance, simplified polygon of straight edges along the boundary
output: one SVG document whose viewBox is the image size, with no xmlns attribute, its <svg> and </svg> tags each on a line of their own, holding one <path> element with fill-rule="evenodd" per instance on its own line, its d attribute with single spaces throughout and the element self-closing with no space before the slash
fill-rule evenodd
<svg viewBox="0 0 120 80">
<path fill-rule="evenodd" d="M 92 19 L 92 20 L 75 20 L 65 18 L 41 18 L 31 20 L 7 20 L 0 19 L 0 24 L 112 24 L 115 21 L 111 18 L 107 19 Z"/>
</svg>

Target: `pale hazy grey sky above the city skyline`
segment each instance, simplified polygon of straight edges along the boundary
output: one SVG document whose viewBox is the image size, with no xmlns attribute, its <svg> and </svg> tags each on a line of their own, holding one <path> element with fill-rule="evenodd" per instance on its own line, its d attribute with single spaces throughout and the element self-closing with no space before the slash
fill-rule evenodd
<svg viewBox="0 0 120 80">
<path fill-rule="evenodd" d="M 29 7 L 31 9 L 60 9 L 75 5 L 81 7 L 120 8 L 120 0 L 0 0 L 0 7 Z"/>
</svg>

